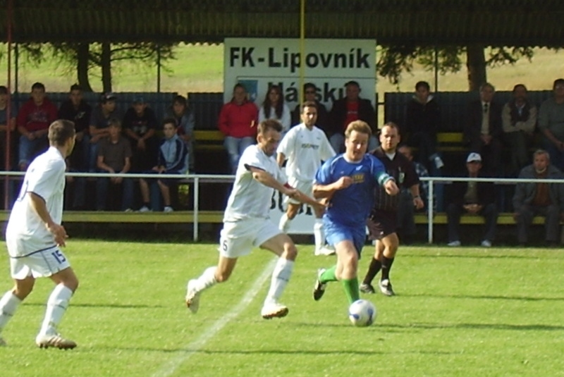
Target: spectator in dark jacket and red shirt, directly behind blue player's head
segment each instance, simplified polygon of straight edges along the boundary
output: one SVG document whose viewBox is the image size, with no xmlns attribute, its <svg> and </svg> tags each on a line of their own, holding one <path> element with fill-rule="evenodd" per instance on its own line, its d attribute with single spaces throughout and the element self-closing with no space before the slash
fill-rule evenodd
<svg viewBox="0 0 564 377">
<path fill-rule="evenodd" d="M 345 84 L 345 98 L 338 99 L 333 103 L 333 108 L 329 113 L 331 122 L 329 142 L 331 147 L 338 154 L 345 149 L 345 129 L 348 124 L 355 120 L 363 120 L 368 123 L 372 130 L 368 142 L 368 150 L 372 151 L 378 147 L 378 129 L 376 128 L 376 111 L 368 99 L 359 97 L 360 85 L 356 81 L 349 81 Z"/>
</svg>

